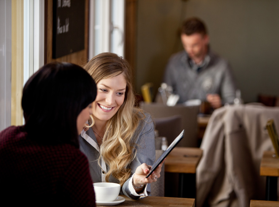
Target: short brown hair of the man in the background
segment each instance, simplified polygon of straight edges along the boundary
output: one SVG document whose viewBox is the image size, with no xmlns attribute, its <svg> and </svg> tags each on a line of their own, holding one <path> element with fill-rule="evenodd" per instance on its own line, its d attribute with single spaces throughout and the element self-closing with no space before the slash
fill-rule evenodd
<svg viewBox="0 0 279 207">
<path fill-rule="evenodd" d="M 201 35 L 207 34 L 207 29 L 204 22 L 197 17 L 186 19 L 181 28 L 181 34 L 186 34 L 189 36 L 194 33 L 200 33 Z"/>
</svg>

